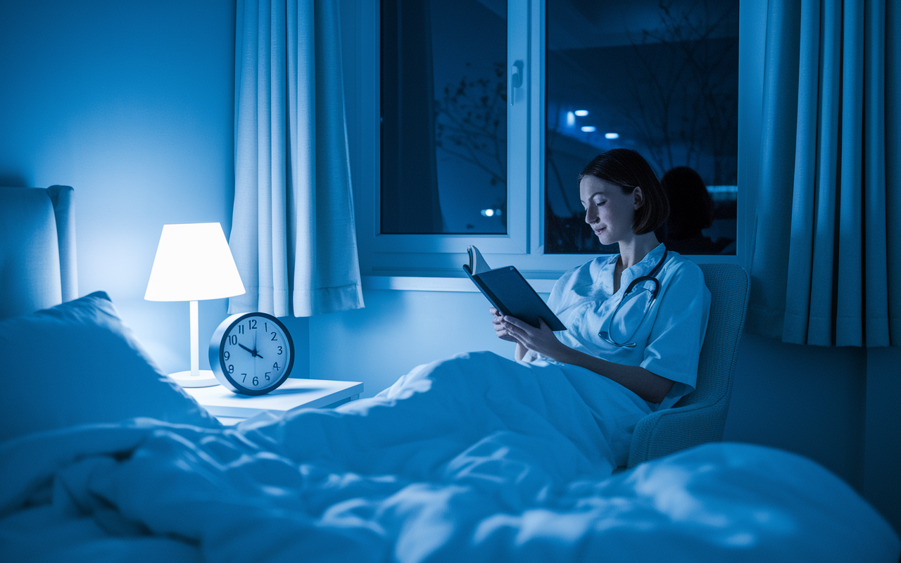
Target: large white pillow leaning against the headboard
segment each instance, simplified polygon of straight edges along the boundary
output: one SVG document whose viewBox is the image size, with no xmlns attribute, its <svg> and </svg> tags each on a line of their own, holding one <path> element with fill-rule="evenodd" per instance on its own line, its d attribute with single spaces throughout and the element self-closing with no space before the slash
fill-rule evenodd
<svg viewBox="0 0 901 563">
<path fill-rule="evenodd" d="M 0 441 L 137 416 L 221 427 L 150 359 L 105 292 L 0 321 Z"/>
</svg>

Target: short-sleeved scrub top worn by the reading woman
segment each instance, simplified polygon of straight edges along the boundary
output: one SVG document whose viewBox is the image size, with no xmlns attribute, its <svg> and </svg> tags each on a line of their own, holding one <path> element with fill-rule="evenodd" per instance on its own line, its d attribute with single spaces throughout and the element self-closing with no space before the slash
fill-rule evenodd
<svg viewBox="0 0 901 563">
<path fill-rule="evenodd" d="M 647 313 L 644 314 L 647 302 L 627 300 L 616 313 L 616 322 L 608 321 L 630 282 L 649 275 L 663 258 L 664 250 L 660 244 L 641 262 L 623 270 L 619 291 L 615 293 L 618 254 L 598 257 L 569 270 L 557 280 L 548 299 L 551 310 L 569 329 L 556 334 L 570 348 L 617 364 L 641 366 L 676 382 L 660 404 L 649 403 L 655 411 L 669 408 L 695 389 L 697 361 L 710 312 L 710 290 L 705 286 L 701 268 L 669 251 L 667 261 L 655 276 L 660 281 L 660 291 Z M 616 342 L 634 342 L 635 346 L 616 346 L 598 336 L 602 330 L 609 331 Z M 525 360 L 559 363 L 532 352 Z"/>
</svg>

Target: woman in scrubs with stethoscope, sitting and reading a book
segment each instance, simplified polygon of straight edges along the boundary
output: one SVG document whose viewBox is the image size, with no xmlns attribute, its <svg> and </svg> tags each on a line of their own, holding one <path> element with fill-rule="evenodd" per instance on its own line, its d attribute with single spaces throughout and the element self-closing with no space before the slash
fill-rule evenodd
<svg viewBox="0 0 901 563">
<path fill-rule="evenodd" d="M 558 336 L 543 322 L 532 327 L 491 308 L 497 336 L 516 342 L 518 360 L 586 368 L 651 410 L 672 406 L 696 383 L 710 310 L 704 276 L 657 240 L 669 204 L 640 154 L 608 150 L 578 179 L 585 221 L 602 244 L 619 243 L 620 254 L 560 277 L 549 305 L 568 331 Z"/>
</svg>

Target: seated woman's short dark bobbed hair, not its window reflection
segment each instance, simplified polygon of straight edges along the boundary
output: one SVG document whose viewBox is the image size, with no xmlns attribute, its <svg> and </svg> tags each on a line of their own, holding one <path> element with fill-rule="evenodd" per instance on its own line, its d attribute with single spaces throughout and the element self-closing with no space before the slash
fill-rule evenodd
<svg viewBox="0 0 901 563">
<path fill-rule="evenodd" d="M 631 149 L 607 150 L 587 164 L 578 175 L 578 181 L 594 176 L 614 186 L 621 186 L 623 194 L 631 194 L 642 188 L 644 203 L 635 210 L 632 231 L 635 234 L 656 231 L 667 221 L 669 201 L 660 186 L 660 180 L 642 155 Z"/>
</svg>

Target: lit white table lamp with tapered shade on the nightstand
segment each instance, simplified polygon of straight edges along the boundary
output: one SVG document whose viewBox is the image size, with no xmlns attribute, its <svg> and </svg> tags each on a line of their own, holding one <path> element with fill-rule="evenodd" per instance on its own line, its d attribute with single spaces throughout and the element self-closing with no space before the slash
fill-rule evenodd
<svg viewBox="0 0 901 563">
<path fill-rule="evenodd" d="M 191 369 L 169 374 L 185 387 L 219 385 L 199 369 L 197 301 L 241 295 L 244 285 L 218 222 L 163 225 L 144 299 L 191 302 Z"/>
</svg>

